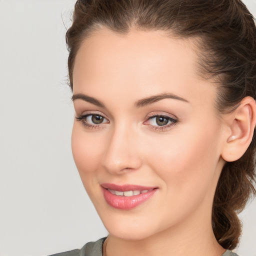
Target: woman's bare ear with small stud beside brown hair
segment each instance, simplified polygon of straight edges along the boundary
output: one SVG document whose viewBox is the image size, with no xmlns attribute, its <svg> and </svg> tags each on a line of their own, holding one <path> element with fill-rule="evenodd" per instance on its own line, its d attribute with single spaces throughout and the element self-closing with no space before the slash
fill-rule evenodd
<svg viewBox="0 0 256 256">
<path fill-rule="evenodd" d="M 248 148 L 256 124 L 256 103 L 252 97 L 245 97 L 238 107 L 227 114 L 228 132 L 225 136 L 221 157 L 225 161 L 239 159 Z"/>
</svg>

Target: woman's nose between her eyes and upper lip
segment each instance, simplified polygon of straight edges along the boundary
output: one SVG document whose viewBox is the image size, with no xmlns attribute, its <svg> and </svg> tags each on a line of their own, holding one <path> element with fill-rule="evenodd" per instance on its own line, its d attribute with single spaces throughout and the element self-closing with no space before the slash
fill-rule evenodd
<svg viewBox="0 0 256 256">
<path fill-rule="evenodd" d="M 122 124 L 111 130 L 102 166 L 112 174 L 122 174 L 141 166 L 136 132 Z"/>
</svg>

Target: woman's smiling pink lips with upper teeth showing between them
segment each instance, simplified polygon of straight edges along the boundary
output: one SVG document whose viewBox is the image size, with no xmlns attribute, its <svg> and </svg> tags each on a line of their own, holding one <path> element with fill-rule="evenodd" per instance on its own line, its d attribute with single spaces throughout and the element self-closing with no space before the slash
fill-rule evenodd
<svg viewBox="0 0 256 256">
<path fill-rule="evenodd" d="M 103 196 L 106 202 L 118 209 L 131 209 L 153 196 L 157 187 L 140 185 L 117 185 L 102 183 Z"/>
</svg>

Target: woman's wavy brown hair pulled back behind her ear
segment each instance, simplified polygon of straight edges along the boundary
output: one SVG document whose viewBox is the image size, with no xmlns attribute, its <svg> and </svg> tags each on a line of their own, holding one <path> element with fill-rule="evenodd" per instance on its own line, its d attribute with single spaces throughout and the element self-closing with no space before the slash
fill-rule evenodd
<svg viewBox="0 0 256 256">
<path fill-rule="evenodd" d="M 74 60 L 82 41 L 100 28 L 125 35 L 133 27 L 194 38 L 201 73 L 217 82 L 219 113 L 232 111 L 245 96 L 256 98 L 256 28 L 240 0 L 77 0 L 73 23 L 66 32 L 71 89 Z M 238 244 L 241 223 L 237 213 L 256 193 L 255 151 L 254 129 L 246 152 L 225 163 L 217 183 L 212 228 L 226 249 Z"/>
</svg>

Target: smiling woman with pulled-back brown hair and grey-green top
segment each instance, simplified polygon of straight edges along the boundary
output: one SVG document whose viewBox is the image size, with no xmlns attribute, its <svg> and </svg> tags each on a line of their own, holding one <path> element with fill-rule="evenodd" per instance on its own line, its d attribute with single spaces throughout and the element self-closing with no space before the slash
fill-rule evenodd
<svg viewBox="0 0 256 256">
<path fill-rule="evenodd" d="M 109 235 L 58 255 L 236 255 L 255 193 L 256 28 L 240 0 L 78 0 L 72 152 Z"/>
</svg>

